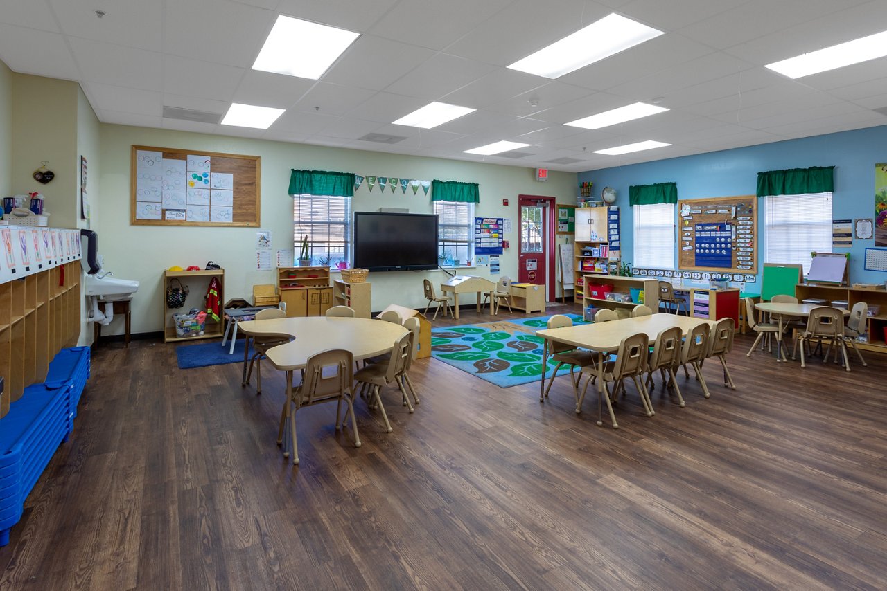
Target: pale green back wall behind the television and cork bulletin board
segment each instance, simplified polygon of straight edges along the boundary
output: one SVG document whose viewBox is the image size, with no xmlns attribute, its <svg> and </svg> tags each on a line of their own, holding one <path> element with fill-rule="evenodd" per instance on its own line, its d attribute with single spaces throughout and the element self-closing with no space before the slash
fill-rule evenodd
<svg viewBox="0 0 887 591">
<path fill-rule="evenodd" d="M 105 268 L 115 276 L 137 279 L 141 286 L 133 299 L 132 331 L 161 330 L 163 294 L 161 275 L 173 265 L 201 268 L 212 260 L 225 268 L 225 299 L 252 297 L 253 284 L 271 284 L 272 271 L 255 271 L 255 229 L 199 228 L 130 225 L 130 147 L 133 144 L 184 150 L 249 154 L 262 158 L 262 228 L 273 231 L 273 248 L 292 248 L 293 201 L 287 195 L 290 169 L 308 168 L 354 172 L 359 175 L 388 175 L 412 179 L 441 179 L 480 183 L 478 215 L 507 217 L 514 230 L 507 239 L 511 248 L 501 261 L 502 274 L 517 276 L 517 195 L 521 193 L 557 198 L 560 203 L 576 203 L 577 176 L 552 173 L 547 183 L 538 183 L 530 168 L 446 159 L 397 156 L 284 144 L 227 136 L 207 136 L 162 129 L 120 125 L 100 126 L 100 196 L 92 199 L 99 232 L 99 250 L 105 255 Z M 90 161 L 90 178 L 91 173 Z M 502 198 L 510 206 L 502 206 Z M 365 186 L 353 201 L 355 211 L 376 211 L 379 207 L 409 207 L 412 213 L 429 213 L 431 203 L 422 191 L 404 195 L 390 190 L 382 195 Z M 95 228 L 95 227 L 94 227 Z M 472 271 L 485 276 L 484 269 Z M 372 273 L 373 310 L 390 303 L 424 307 L 422 278 L 435 282 L 447 277 L 442 271 Z M 467 300 L 466 300 L 467 301 Z M 121 332 L 115 320 L 108 334 Z"/>
</svg>

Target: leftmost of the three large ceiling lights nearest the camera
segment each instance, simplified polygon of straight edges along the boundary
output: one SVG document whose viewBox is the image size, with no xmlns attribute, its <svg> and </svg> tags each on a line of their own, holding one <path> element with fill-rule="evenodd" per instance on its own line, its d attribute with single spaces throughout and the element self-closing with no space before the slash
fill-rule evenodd
<svg viewBox="0 0 887 591">
<path fill-rule="evenodd" d="M 279 15 L 254 70 L 317 80 L 360 36 L 341 28 Z"/>
</svg>

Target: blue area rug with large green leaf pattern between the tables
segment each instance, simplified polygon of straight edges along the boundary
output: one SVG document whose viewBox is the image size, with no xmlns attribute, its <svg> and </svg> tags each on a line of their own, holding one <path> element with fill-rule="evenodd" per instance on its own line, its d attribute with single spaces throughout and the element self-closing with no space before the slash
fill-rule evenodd
<svg viewBox="0 0 887 591">
<path fill-rule="evenodd" d="M 585 324 L 580 315 L 569 315 Z M 467 324 L 431 330 L 431 356 L 500 388 L 536 382 L 542 371 L 543 339 L 549 316 L 499 323 Z M 548 362 L 546 378 L 557 363 Z M 561 369 L 558 375 L 568 373 Z"/>
</svg>

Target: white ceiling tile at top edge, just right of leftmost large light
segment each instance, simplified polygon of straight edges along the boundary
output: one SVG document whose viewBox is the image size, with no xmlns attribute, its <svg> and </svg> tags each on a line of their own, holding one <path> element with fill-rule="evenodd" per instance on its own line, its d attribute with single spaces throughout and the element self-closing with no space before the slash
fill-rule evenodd
<svg viewBox="0 0 887 591">
<path fill-rule="evenodd" d="M 510 3 L 511 0 L 401 0 L 367 32 L 401 43 L 442 50 Z M 415 26 L 417 22 L 422 23 L 421 27 Z"/>
</svg>

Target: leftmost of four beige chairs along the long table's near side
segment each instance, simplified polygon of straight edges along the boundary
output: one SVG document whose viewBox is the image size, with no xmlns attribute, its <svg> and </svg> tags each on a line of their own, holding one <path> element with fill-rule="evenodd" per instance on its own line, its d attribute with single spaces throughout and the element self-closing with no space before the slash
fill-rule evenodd
<svg viewBox="0 0 887 591">
<path fill-rule="evenodd" d="M 649 343 L 647 339 L 647 334 L 643 332 L 639 332 L 638 334 L 632 335 L 631 337 L 625 337 L 622 339 L 622 342 L 619 343 L 619 350 L 616 353 L 616 360 L 612 362 L 607 362 L 604 365 L 604 375 L 601 377 L 603 380 L 603 390 L 604 390 L 604 400 L 607 400 L 607 409 L 609 411 L 610 420 L 613 423 L 613 428 L 618 429 L 619 424 L 616 423 L 616 415 L 613 412 L 613 404 L 611 400 L 616 400 L 619 392 L 622 391 L 624 393 L 624 379 L 626 377 L 631 377 L 634 382 L 634 387 L 638 390 L 640 394 L 640 402 L 644 407 L 644 412 L 647 416 L 655 415 L 653 411 L 653 405 L 650 403 L 648 398 L 647 388 L 644 387 L 643 373 L 647 369 L 647 356 L 649 350 Z M 582 373 L 588 374 L 597 374 L 598 369 L 594 368 L 594 366 L 589 365 L 582 368 Z M 585 400 L 585 393 L 588 391 L 588 385 L 592 382 L 591 379 L 585 381 L 585 388 L 582 390 L 582 394 L 579 396 L 579 400 L 577 401 L 577 408 L 582 407 L 582 402 Z M 611 391 L 607 382 L 613 382 L 613 390 Z M 602 425 L 603 416 L 602 416 L 602 408 L 601 408 L 601 396 L 600 390 L 598 391 L 598 425 Z"/>
</svg>

